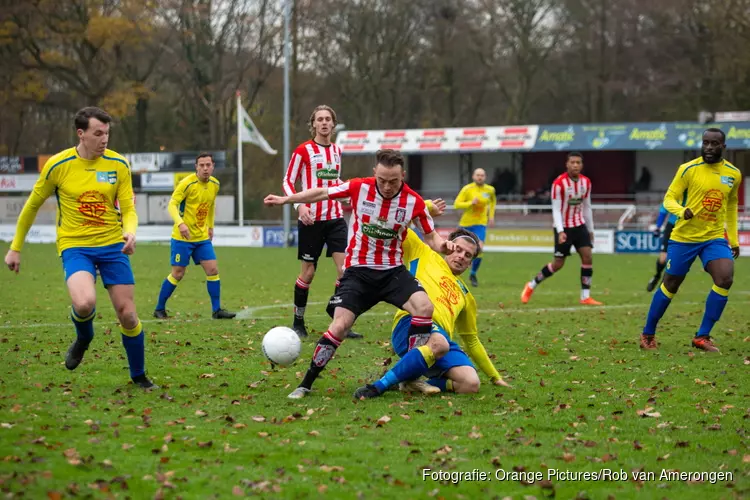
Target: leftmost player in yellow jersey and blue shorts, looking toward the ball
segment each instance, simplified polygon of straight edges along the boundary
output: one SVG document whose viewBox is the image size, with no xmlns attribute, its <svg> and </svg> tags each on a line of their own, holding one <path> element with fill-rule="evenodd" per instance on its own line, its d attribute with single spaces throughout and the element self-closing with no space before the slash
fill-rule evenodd
<svg viewBox="0 0 750 500">
<path fill-rule="evenodd" d="M 156 386 L 146 377 L 143 327 L 135 310 L 135 279 L 128 257 L 135 251 L 138 216 L 128 162 L 107 149 L 111 121 L 105 111 L 95 107 L 76 113 L 78 146 L 45 163 L 18 217 L 5 263 L 18 273 L 26 234 L 39 208 L 54 193 L 57 251 L 62 258 L 72 301 L 71 319 L 76 328 L 76 340 L 68 349 L 65 367 L 77 368 L 94 338 L 99 271 L 120 322 L 130 377 L 136 385 L 154 389 Z"/>
</svg>

